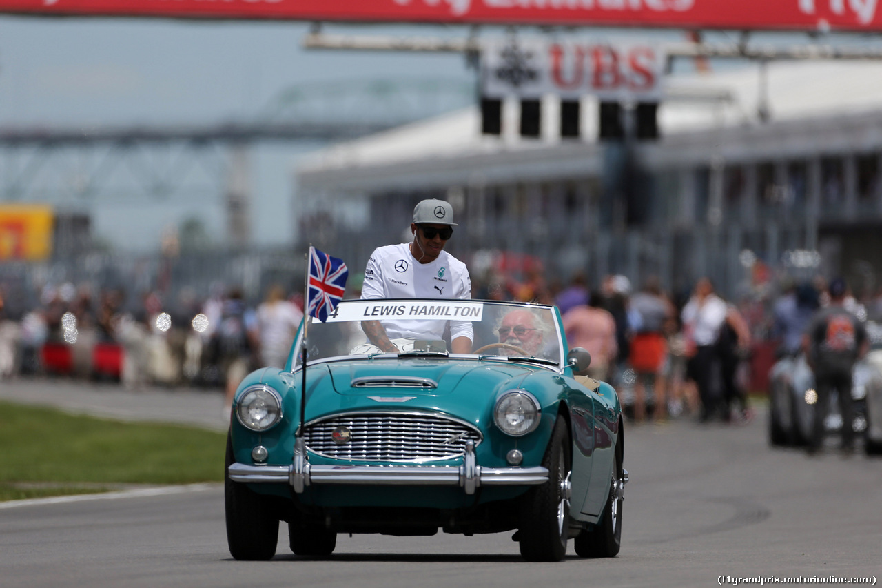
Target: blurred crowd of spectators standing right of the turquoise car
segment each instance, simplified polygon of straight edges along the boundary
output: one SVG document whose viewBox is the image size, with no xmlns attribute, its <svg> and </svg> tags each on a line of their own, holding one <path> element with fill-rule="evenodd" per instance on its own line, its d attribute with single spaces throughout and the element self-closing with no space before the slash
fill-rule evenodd
<svg viewBox="0 0 882 588">
<path fill-rule="evenodd" d="M 624 275 L 591 283 L 578 272 L 561 284 L 525 274 L 523 282 L 479 277 L 475 297 L 557 305 L 570 347 L 591 353 L 589 375 L 617 388 L 632 422 L 750 421 L 751 394 L 766 393 L 774 360 L 799 351 L 809 320 L 829 303 L 818 276 L 781 275 L 726 299 L 707 277 L 670 292 L 655 276 L 634 291 Z M 882 320 L 882 290 L 861 300 L 849 292 L 846 304 L 863 320 Z"/>
</svg>

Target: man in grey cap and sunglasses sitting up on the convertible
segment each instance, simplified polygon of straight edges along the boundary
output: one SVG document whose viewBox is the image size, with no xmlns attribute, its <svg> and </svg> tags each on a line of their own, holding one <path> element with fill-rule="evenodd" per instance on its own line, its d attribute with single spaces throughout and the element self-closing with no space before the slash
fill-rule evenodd
<svg viewBox="0 0 882 588">
<path fill-rule="evenodd" d="M 414 208 L 414 240 L 377 247 L 364 270 L 362 299 L 472 298 L 466 264 L 444 251 L 452 237 L 453 207 L 445 200 L 422 200 Z M 354 353 L 407 351 L 415 339 L 439 340 L 449 325 L 453 353 L 470 353 L 474 334 L 467 320 L 364 320 L 370 343 Z M 402 349 L 405 347 L 405 349 Z"/>
</svg>

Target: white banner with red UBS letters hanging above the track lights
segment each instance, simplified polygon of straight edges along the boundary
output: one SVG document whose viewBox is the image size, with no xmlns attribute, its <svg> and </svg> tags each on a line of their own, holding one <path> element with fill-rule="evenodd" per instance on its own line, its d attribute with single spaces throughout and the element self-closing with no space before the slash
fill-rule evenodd
<svg viewBox="0 0 882 588">
<path fill-rule="evenodd" d="M 641 43 L 497 41 L 482 45 L 482 96 L 659 102 L 665 56 Z"/>
</svg>

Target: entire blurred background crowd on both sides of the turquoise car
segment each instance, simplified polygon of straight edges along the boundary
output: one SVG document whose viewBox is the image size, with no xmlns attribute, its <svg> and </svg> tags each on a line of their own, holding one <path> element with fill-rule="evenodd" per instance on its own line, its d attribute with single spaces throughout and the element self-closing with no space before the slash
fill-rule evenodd
<svg viewBox="0 0 882 588">
<path fill-rule="evenodd" d="M 473 276 L 474 298 L 557 305 L 569 345 L 591 353 L 589 375 L 617 387 L 635 422 L 749 420 L 748 394 L 765 392 L 763 372 L 771 366 L 757 355 L 796 353 L 808 320 L 826 304 L 818 278 L 784 278 L 726 300 L 706 278 L 667 292 L 654 276 L 635 291 L 624 275 L 594 283 L 579 272 L 562 283 L 535 266 L 515 275 Z M 358 297 L 360 278 L 350 278 L 348 298 Z M 864 318 L 882 318 L 882 294 L 848 304 Z M 202 386 L 229 398 L 250 369 L 285 364 L 302 317 L 302 294 L 279 285 L 248 301 L 235 286 L 215 286 L 200 298 L 186 288 L 174 297 L 131 296 L 64 283 L 45 286 L 38 304 L 17 312 L 4 305 L 0 285 L 0 379 Z"/>
</svg>

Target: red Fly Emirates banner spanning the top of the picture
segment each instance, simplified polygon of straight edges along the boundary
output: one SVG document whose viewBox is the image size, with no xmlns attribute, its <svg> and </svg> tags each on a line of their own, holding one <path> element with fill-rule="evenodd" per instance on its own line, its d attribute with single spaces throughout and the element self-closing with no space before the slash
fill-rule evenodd
<svg viewBox="0 0 882 588">
<path fill-rule="evenodd" d="M 882 0 L 0 0 L 0 13 L 880 31 Z"/>
</svg>

